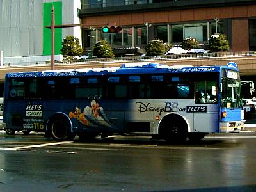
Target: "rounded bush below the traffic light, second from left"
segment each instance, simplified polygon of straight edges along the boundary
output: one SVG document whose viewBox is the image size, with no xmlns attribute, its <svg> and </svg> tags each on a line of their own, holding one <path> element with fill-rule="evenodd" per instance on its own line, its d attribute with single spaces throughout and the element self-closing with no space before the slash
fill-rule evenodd
<svg viewBox="0 0 256 192">
<path fill-rule="evenodd" d="M 100 40 L 93 47 L 93 56 L 97 56 L 97 58 L 113 58 L 115 55 L 108 42 Z"/>
</svg>

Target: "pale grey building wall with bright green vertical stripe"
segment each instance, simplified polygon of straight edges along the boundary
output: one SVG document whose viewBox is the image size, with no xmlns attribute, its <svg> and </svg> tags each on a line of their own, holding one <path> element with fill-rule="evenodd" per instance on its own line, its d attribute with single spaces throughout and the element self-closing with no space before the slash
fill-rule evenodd
<svg viewBox="0 0 256 192">
<path fill-rule="evenodd" d="M 80 0 L 0 0 L 0 51 L 4 64 L 24 57 L 50 56 L 51 58 L 51 9 L 54 6 L 55 24 L 80 24 L 77 10 Z M 55 54 L 61 54 L 61 42 L 67 35 L 81 40 L 81 27 L 56 28 Z M 12 59 L 11 59 L 12 58 Z M 19 61 L 13 61 L 19 62 Z M 1 63 L 2 64 L 2 63 Z"/>
</svg>

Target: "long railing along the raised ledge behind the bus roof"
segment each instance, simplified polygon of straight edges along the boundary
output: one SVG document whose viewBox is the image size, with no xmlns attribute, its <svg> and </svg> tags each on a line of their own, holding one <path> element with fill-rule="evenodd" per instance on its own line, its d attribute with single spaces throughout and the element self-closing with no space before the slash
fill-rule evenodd
<svg viewBox="0 0 256 192">
<path fill-rule="evenodd" d="M 243 52 L 212 52 L 212 53 L 193 53 L 193 54 L 171 54 L 164 56 L 129 56 L 118 58 L 93 58 L 93 59 L 80 59 L 80 60 L 64 60 L 56 61 L 56 65 L 68 65 L 75 63 L 111 63 L 111 62 L 125 62 L 125 61 L 154 61 L 154 60 L 200 60 L 205 58 L 236 58 L 243 56 L 256 56 L 256 51 L 243 51 Z M 24 57 L 26 58 L 26 57 Z M 51 61 L 22 61 L 4 63 L 2 67 L 22 67 L 22 66 L 36 66 L 36 65 L 51 65 Z"/>
</svg>

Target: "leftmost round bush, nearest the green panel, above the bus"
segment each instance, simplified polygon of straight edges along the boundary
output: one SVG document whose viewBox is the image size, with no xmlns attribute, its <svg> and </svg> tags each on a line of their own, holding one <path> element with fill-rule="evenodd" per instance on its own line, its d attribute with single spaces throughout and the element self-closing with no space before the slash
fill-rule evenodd
<svg viewBox="0 0 256 192">
<path fill-rule="evenodd" d="M 79 44 L 79 39 L 74 36 L 67 36 L 62 41 L 61 54 L 65 59 L 73 59 L 75 56 L 81 56 L 84 50 Z"/>
</svg>

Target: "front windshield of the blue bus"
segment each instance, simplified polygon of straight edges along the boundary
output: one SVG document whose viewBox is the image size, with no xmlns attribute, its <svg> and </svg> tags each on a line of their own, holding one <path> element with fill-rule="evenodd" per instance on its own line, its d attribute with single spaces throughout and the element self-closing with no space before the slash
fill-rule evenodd
<svg viewBox="0 0 256 192">
<path fill-rule="evenodd" d="M 239 108 L 242 106 L 240 82 L 237 79 L 222 79 L 221 106 Z"/>
</svg>

